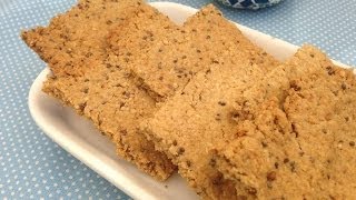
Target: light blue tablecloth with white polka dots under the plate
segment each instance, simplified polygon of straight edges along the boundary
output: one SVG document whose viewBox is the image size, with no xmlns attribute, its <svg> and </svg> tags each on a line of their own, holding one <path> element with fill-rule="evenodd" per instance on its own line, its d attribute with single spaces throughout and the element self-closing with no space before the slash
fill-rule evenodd
<svg viewBox="0 0 356 200">
<path fill-rule="evenodd" d="M 199 8 L 209 0 L 174 0 Z M 46 64 L 20 39 L 75 0 L 0 1 L 0 199 L 129 199 L 67 153 L 32 121 L 27 97 Z M 220 6 L 220 4 L 218 4 Z M 259 11 L 221 7 L 226 17 L 295 44 L 313 43 L 356 66 L 356 3 L 285 0 Z"/>
</svg>

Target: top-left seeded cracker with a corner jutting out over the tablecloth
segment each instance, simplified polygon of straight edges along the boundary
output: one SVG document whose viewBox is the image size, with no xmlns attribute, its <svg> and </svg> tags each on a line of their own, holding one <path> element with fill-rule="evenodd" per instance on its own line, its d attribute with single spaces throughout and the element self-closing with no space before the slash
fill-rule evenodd
<svg viewBox="0 0 356 200">
<path fill-rule="evenodd" d="M 23 31 L 21 37 L 56 76 L 81 76 L 106 57 L 102 43 L 111 27 L 125 23 L 140 0 L 79 0 L 48 27 Z"/>
</svg>

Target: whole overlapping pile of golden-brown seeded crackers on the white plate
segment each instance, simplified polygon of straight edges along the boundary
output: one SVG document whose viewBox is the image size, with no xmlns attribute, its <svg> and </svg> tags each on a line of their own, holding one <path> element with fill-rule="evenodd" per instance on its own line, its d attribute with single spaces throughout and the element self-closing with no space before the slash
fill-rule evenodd
<svg viewBox="0 0 356 200">
<path fill-rule="evenodd" d="M 214 6 L 182 24 L 140 0 L 80 0 L 22 32 L 43 91 L 157 180 L 202 199 L 355 199 L 356 80 L 318 49 L 280 62 Z M 88 136 L 90 137 L 90 136 Z"/>
</svg>

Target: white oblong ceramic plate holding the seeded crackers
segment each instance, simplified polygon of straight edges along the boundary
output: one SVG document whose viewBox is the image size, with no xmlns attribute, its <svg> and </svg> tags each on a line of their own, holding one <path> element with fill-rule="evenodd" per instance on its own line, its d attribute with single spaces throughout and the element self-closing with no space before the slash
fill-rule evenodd
<svg viewBox="0 0 356 200">
<path fill-rule="evenodd" d="M 179 24 L 197 11 L 172 2 L 154 2 L 151 6 Z M 279 60 L 285 60 L 297 50 L 296 46 L 288 42 L 244 26 L 237 27 L 251 41 Z M 166 182 L 158 182 L 134 164 L 118 158 L 113 144 L 102 137 L 90 121 L 41 91 L 49 73 L 49 69 L 44 69 L 34 80 L 29 93 L 31 116 L 48 137 L 134 199 L 199 199 L 178 174 L 174 174 Z"/>
</svg>

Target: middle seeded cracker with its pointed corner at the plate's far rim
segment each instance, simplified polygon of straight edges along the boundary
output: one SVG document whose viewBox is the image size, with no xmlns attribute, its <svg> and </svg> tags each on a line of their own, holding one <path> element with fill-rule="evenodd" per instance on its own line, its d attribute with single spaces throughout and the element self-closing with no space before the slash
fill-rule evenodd
<svg viewBox="0 0 356 200">
<path fill-rule="evenodd" d="M 167 23 L 152 27 L 145 22 L 135 26 L 134 31 L 130 27 L 129 31 L 120 27 L 112 30 L 109 43 L 157 100 L 180 91 L 197 72 L 214 63 L 239 60 L 238 54 L 227 58 L 226 51 L 239 49 L 266 70 L 278 63 L 246 39 L 212 4 L 190 17 L 182 27 Z"/>
</svg>

